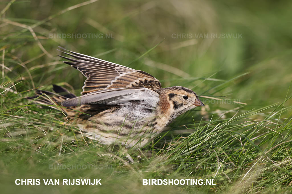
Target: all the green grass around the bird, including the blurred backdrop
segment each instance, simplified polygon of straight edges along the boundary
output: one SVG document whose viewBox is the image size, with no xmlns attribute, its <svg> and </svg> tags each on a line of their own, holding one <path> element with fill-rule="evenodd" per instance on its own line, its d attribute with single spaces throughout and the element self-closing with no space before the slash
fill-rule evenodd
<svg viewBox="0 0 292 194">
<path fill-rule="evenodd" d="M 291 2 L 10 2 L 0 5 L 3 193 L 291 192 Z M 242 38 L 196 39 L 199 33 Z M 59 111 L 25 99 L 51 83 L 81 92 L 84 77 L 56 57 L 58 46 L 128 64 L 164 87 L 191 88 L 206 106 L 177 118 L 143 149 L 129 150 L 129 164 L 121 150 L 83 137 Z M 102 186 L 16 186 L 17 178 L 98 178 Z M 142 179 L 216 185 L 143 186 Z"/>
</svg>

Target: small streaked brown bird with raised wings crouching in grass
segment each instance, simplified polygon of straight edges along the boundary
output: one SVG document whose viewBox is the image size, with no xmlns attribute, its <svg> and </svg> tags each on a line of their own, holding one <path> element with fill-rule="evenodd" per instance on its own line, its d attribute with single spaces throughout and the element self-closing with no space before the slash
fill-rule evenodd
<svg viewBox="0 0 292 194">
<path fill-rule="evenodd" d="M 77 97 L 53 85 L 54 92 L 36 90 L 37 95 L 29 99 L 58 105 L 51 107 L 66 113 L 88 138 L 102 144 L 143 147 L 177 116 L 204 106 L 192 90 L 161 88 L 161 83 L 146 72 L 72 51 L 61 52 L 73 57 L 61 56 L 70 60 L 64 63 L 87 78 L 82 95 Z"/>
</svg>

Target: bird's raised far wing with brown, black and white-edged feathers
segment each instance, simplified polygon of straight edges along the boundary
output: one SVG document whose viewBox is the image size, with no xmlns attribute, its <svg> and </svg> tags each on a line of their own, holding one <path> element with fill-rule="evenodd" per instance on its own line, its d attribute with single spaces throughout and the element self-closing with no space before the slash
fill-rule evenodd
<svg viewBox="0 0 292 194">
<path fill-rule="evenodd" d="M 62 47 L 60 48 L 63 49 Z M 66 49 L 64 50 L 68 51 Z M 83 92 L 81 92 L 82 95 L 110 88 L 145 87 L 154 91 L 161 88 L 161 83 L 158 79 L 146 72 L 134 70 L 123 65 L 118 65 L 116 63 L 111 63 L 109 61 L 79 54 L 73 51 L 68 51 L 70 53 L 64 51 L 61 52 L 74 57 L 69 58 L 61 56 L 70 60 L 64 61 L 64 63 L 76 68 L 87 78 L 84 82 Z"/>
</svg>

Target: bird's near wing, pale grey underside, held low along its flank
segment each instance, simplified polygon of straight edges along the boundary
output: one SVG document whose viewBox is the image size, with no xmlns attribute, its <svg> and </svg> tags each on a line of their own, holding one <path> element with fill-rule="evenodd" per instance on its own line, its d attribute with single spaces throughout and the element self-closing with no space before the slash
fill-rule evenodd
<svg viewBox="0 0 292 194">
<path fill-rule="evenodd" d="M 117 105 L 131 100 L 143 100 L 144 104 L 156 107 L 159 94 L 148 88 L 111 88 L 65 100 L 61 105 L 65 107 L 81 104 Z"/>
</svg>

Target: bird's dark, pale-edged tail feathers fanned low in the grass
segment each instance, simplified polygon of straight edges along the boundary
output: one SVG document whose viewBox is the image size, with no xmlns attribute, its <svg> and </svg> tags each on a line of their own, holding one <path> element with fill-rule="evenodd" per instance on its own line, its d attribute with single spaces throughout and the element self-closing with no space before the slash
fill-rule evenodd
<svg viewBox="0 0 292 194">
<path fill-rule="evenodd" d="M 36 90 L 36 95 L 27 97 L 27 99 L 33 100 L 33 103 L 35 104 L 47 105 L 48 107 L 55 108 L 68 114 L 69 109 L 61 106 L 60 103 L 64 100 L 75 98 L 77 96 L 72 92 L 69 92 L 67 89 L 55 84 L 53 84 L 53 91 L 54 92 Z"/>
</svg>

